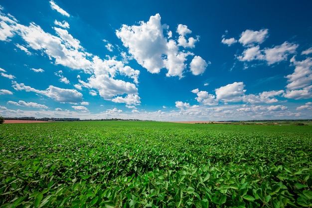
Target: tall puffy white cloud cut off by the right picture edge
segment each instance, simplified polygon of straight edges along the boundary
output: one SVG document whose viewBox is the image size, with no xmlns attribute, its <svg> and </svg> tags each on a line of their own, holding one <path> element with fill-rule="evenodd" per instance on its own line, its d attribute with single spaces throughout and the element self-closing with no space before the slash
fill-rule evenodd
<svg viewBox="0 0 312 208">
<path fill-rule="evenodd" d="M 289 90 L 297 90 L 308 87 L 312 84 L 312 58 L 303 61 L 296 61 L 296 57 L 291 58 L 291 63 L 295 66 L 294 73 L 286 76 Z"/>
</svg>

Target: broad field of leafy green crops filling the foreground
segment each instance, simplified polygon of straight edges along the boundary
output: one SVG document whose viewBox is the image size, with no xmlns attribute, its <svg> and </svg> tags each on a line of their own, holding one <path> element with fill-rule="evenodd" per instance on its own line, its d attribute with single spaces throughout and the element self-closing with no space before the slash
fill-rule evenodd
<svg viewBox="0 0 312 208">
<path fill-rule="evenodd" d="M 312 207 L 312 125 L 0 125 L 0 208 Z"/>
</svg>

